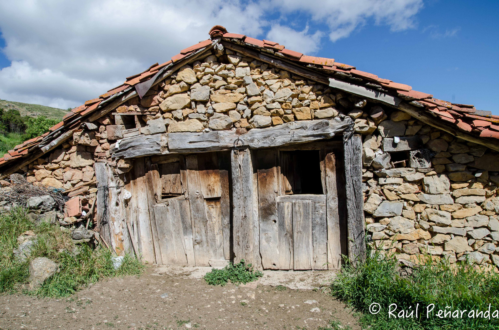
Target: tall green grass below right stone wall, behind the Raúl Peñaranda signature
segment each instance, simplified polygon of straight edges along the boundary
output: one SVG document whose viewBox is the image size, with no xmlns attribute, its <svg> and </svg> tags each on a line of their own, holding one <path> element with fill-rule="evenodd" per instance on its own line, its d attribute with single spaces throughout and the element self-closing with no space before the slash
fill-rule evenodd
<svg viewBox="0 0 499 330">
<path fill-rule="evenodd" d="M 399 275 L 395 256 L 381 259 L 379 251 L 375 251 L 359 267 L 344 267 L 331 285 L 332 295 L 362 312 L 360 321 L 364 327 L 372 330 L 499 329 L 498 319 L 492 319 L 493 311 L 499 309 L 498 274 L 481 272 L 466 263 L 432 264 L 428 259 L 415 268 L 412 275 L 403 277 Z M 372 303 L 380 304 L 378 314 L 369 312 Z M 402 309 L 412 311 L 418 303 L 418 318 L 389 317 L 391 304 L 397 305 L 394 314 L 398 316 Z M 427 318 L 426 308 L 430 304 L 435 304 L 435 309 Z M 488 310 L 489 304 L 492 305 L 491 320 L 467 317 L 471 310 Z M 439 310 L 467 312 L 462 319 L 452 318 L 452 313 L 451 317 L 439 318 Z"/>
</svg>

